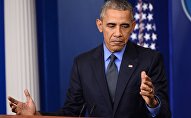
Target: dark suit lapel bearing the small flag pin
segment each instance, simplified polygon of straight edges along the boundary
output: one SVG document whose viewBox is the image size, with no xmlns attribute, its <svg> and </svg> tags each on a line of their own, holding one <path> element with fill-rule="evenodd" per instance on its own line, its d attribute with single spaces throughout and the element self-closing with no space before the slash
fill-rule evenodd
<svg viewBox="0 0 191 118">
<path fill-rule="evenodd" d="M 136 49 L 131 44 L 131 42 L 127 43 L 125 52 L 123 54 L 123 59 L 121 62 L 119 77 L 117 81 L 117 88 L 115 93 L 115 101 L 114 101 L 114 109 L 113 115 L 115 114 L 120 99 L 124 93 L 124 90 L 128 84 L 131 75 L 133 74 L 136 66 L 137 66 L 137 59 L 136 59 Z"/>
</svg>

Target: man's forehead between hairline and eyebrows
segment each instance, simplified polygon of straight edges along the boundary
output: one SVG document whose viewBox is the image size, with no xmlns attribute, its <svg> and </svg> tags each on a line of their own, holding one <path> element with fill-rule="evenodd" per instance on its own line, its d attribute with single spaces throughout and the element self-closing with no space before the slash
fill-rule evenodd
<svg viewBox="0 0 191 118">
<path fill-rule="evenodd" d="M 123 11 L 123 10 L 107 9 L 105 11 L 103 20 L 129 22 L 131 21 L 131 13 L 129 10 Z"/>
</svg>

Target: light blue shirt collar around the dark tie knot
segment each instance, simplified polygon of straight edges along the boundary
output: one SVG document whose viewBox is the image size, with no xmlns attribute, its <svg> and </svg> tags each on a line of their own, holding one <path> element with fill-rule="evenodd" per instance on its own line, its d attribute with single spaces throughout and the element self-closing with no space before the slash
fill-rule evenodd
<svg viewBox="0 0 191 118">
<path fill-rule="evenodd" d="M 119 59 L 119 61 L 122 61 L 125 48 L 126 48 L 126 45 L 123 47 L 121 51 L 113 53 L 117 57 L 117 59 Z M 107 49 L 105 43 L 103 43 L 103 49 L 104 49 L 104 61 L 107 61 L 109 59 L 109 56 L 112 54 L 112 52 L 110 52 L 109 49 Z"/>
</svg>

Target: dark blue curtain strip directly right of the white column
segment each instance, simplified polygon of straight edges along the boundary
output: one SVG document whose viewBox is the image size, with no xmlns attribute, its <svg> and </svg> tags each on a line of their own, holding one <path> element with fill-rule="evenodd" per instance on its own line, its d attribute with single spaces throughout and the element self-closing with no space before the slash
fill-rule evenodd
<svg viewBox="0 0 191 118">
<path fill-rule="evenodd" d="M 41 111 L 60 107 L 57 0 L 36 0 Z"/>
</svg>

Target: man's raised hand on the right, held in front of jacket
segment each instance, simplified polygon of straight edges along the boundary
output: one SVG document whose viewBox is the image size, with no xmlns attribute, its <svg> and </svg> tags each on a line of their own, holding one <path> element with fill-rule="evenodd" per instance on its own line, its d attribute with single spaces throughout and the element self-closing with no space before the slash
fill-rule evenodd
<svg viewBox="0 0 191 118">
<path fill-rule="evenodd" d="M 145 71 L 141 72 L 140 94 L 149 107 L 154 108 L 159 104 L 158 100 L 155 98 L 155 91 L 151 78 L 146 75 Z"/>
</svg>

